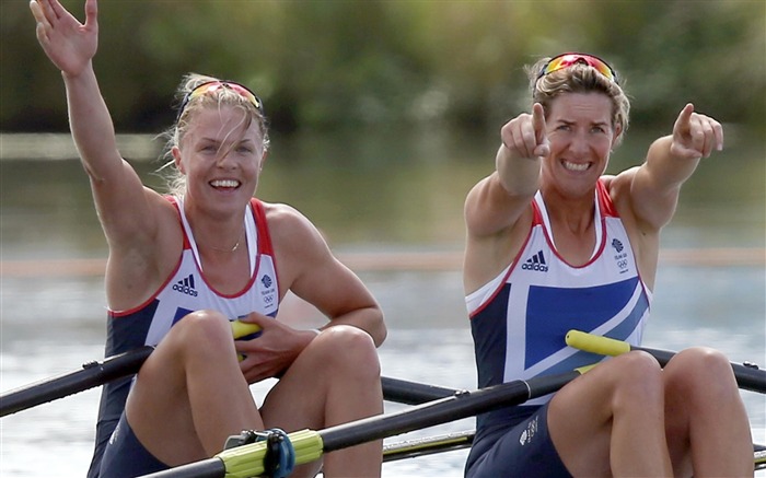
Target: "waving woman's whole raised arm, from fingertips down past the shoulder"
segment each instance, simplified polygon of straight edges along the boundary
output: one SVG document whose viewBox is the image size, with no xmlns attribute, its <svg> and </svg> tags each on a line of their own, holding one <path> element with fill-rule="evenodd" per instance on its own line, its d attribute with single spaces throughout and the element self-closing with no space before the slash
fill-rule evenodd
<svg viewBox="0 0 766 478">
<path fill-rule="evenodd" d="M 155 264 L 158 218 L 167 214 L 171 206 L 143 187 L 117 150 L 114 125 L 93 70 L 98 44 L 96 0 L 86 0 L 84 24 L 58 0 L 33 0 L 30 9 L 43 50 L 61 70 L 72 138 L 109 243 L 109 303 L 135 304 L 158 285 L 162 273 Z"/>
</svg>

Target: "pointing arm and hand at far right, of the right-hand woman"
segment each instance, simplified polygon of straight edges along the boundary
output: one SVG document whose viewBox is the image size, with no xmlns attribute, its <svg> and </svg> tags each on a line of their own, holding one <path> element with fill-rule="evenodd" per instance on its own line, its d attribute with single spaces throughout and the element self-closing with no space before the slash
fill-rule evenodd
<svg viewBox="0 0 766 478">
<path fill-rule="evenodd" d="M 655 140 L 647 161 L 626 175 L 630 180 L 630 207 L 643 228 L 659 231 L 675 213 L 681 186 L 688 179 L 701 158 L 723 149 L 723 129 L 713 118 L 694 112 L 687 104 L 678 114 L 673 133 Z M 630 177 L 635 175 L 634 177 Z"/>
</svg>

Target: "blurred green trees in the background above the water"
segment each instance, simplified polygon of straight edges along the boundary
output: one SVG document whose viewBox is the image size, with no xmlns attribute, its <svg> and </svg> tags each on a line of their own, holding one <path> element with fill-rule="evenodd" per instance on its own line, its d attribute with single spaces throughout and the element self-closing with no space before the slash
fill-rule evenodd
<svg viewBox="0 0 766 478">
<path fill-rule="evenodd" d="M 78 18 L 83 0 L 65 0 Z M 95 68 L 120 131 L 173 120 L 181 77 L 241 81 L 277 130 L 500 125 L 529 107 L 522 67 L 562 50 L 605 57 L 634 124 L 684 103 L 766 127 L 763 0 L 132 0 L 100 3 Z M 0 130 L 66 130 L 61 81 L 26 0 L 0 3 Z"/>
</svg>

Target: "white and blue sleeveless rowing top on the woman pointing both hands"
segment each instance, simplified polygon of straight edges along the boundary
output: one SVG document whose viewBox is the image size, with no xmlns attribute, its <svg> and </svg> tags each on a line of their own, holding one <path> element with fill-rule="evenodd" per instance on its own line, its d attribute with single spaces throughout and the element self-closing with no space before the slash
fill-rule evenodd
<svg viewBox="0 0 766 478">
<path fill-rule="evenodd" d="M 651 292 L 627 232 L 600 180 L 595 248 L 579 267 L 559 256 L 543 197 L 525 244 L 498 277 L 466 296 L 479 386 L 570 371 L 603 358 L 568 347 L 568 330 L 641 341 Z M 527 403 L 535 405 L 544 400 Z"/>
</svg>

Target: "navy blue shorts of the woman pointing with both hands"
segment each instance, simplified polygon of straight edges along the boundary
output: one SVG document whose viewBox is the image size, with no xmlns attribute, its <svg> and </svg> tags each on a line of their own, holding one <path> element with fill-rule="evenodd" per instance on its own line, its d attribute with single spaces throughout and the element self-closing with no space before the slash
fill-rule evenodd
<svg viewBox="0 0 766 478">
<path fill-rule="evenodd" d="M 466 478 L 571 478 L 548 433 L 548 405 L 511 429 L 498 429 L 475 442 Z"/>
</svg>

